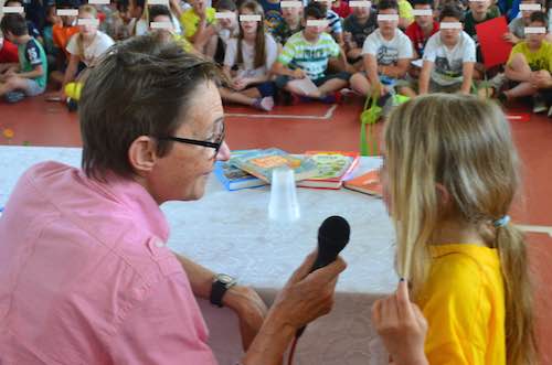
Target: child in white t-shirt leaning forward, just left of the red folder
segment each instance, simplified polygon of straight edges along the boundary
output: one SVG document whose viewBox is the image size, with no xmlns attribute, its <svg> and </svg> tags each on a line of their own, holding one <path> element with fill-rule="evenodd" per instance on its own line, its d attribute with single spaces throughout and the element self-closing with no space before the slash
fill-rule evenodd
<svg viewBox="0 0 552 365">
<path fill-rule="evenodd" d="M 440 24 L 461 22 L 461 9 L 446 6 L 439 14 Z M 461 23 L 460 23 L 461 24 Z M 440 29 L 427 41 L 420 74 L 418 93 L 470 94 L 476 44 L 459 29 Z"/>
</svg>

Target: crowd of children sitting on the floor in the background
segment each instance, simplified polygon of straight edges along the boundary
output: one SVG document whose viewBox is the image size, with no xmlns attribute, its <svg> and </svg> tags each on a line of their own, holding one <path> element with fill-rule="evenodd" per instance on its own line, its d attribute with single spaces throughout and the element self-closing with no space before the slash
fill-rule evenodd
<svg viewBox="0 0 552 365">
<path fill-rule="evenodd" d="M 26 9 L 22 1 L 4 6 Z M 3 17 L 0 96 L 17 101 L 42 94 L 50 79 L 60 89 L 50 99 L 78 98 L 70 89 L 82 86 L 83 71 L 114 42 L 159 32 L 160 39 L 178 40 L 188 52 L 221 64 L 230 78 L 221 87 L 224 101 L 267 111 L 278 99 L 335 103 L 344 88 L 362 96 L 378 90 L 382 100 L 435 92 L 477 93 L 502 103 L 532 96 L 535 112 L 548 110 L 552 99 L 551 1 L 520 1 L 519 17 L 503 34 L 513 45 L 510 58 L 491 69 L 482 64 L 476 25 L 500 15 L 505 4 L 492 0 L 467 6 L 380 0 L 353 7 L 346 0 L 75 1 L 46 6 L 41 29 L 24 12 Z M 507 17 L 518 11 L 511 7 L 502 9 Z M 539 31 L 526 34 L 526 29 Z"/>
</svg>

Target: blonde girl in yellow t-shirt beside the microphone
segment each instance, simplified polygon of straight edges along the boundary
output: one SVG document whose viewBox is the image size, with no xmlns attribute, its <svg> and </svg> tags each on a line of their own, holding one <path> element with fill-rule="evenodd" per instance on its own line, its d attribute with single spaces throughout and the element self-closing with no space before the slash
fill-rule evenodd
<svg viewBox="0 0 552 365">
<path fill-rule="evenodd" d="M 402 281 L 373 307 L 393 362 L 534 364 L 526 246 L 508 216 L 518 154 L 502 111 L 470 96 L 417 97 L 385 124 L 383 155 L 397 271 L 417 304 Z"/>
</svg>

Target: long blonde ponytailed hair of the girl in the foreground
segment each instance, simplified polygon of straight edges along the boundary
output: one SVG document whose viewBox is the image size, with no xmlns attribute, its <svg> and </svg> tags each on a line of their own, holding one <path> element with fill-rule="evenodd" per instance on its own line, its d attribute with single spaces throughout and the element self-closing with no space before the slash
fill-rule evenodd
<svg viewBox="0 0 552 365">
<path fill-rule="evenodd" d="M 455 218 L 476 227 L 500 257 L 507 364 L 535 364 L 523 237 L 512 224 L 492 226 L 508 213 L 520 185 L 518 154 L 500 108 L 471 96 L 421 96 L 391 114 L 384 144 L 397 270 L 411 280 L 414 298 L 426 280 L 428 248 L 439 223 Z M 452 212 L 439 204 L 436 184 L 448 192 Z"/>
</svg>

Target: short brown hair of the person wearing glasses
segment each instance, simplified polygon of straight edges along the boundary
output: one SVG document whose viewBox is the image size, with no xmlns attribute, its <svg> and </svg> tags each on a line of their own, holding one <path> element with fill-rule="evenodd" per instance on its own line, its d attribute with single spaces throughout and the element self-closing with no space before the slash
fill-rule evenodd
<svg viewBox="0 0 552 365">
<path fill-rule="evenodd" d="M 82 167 L 89 178 L 106 172 L 131 176 L 128 149 L 139 136 L 167 137 L 182 122 L 201 83 L 220 82 L 212 62 L 185 53 L 174 42 L 142 35 L 109 49 L 86 77 L 78 106 Z M 158 140 L 166 155 L 170 141 Z"/>
</svg>

